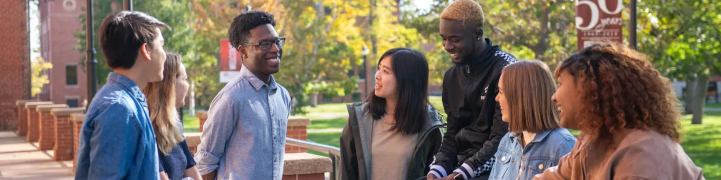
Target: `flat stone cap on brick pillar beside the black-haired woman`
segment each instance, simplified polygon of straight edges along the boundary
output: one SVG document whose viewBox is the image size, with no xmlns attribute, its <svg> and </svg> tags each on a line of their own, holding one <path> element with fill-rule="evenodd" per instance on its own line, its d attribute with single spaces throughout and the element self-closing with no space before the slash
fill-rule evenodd
<svg viewBox="0 0 721 180">
<path fill-rule="evenodd" d="M 330 158 L 311 153 L 286 153 L 283 175 L 322 174 L 333 171 Z"/>
</svg>

